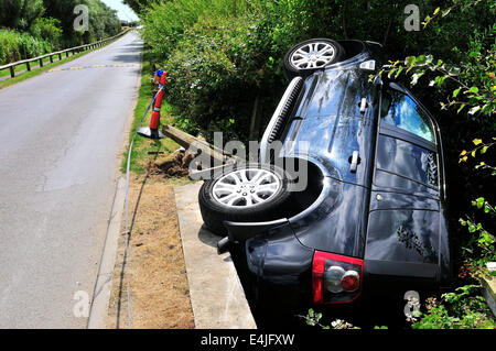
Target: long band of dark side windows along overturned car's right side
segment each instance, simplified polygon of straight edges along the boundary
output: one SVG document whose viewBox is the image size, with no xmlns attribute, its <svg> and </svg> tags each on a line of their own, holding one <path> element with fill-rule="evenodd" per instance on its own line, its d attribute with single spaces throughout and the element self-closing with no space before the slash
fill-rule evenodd
<svg viewBox="0 0 496 351">
<path fill-rule="evenodd" d="M 365 248 L 370 276 L 439 277 L 439 143 L 433 120 L 405 89 L 382 89 Z"/>
</svg>

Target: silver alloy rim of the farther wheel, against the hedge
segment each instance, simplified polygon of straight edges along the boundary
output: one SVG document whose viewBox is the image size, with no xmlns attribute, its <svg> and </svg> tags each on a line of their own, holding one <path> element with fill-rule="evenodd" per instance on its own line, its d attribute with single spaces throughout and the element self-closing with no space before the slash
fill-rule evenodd
<svg viewBox="0 0 496 351">
<path fill-rule="evenodd" d="M 298 69 L 323 68 L 335 57 L 334 46 L 324 42 L 305 44 L 291 55 L 291 65 Z"/>
</svg>

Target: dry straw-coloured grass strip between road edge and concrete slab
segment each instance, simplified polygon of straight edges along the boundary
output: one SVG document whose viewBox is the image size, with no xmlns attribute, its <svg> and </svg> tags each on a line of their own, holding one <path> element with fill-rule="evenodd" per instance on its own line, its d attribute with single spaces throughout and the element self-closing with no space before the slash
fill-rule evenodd
<svg viewBox="0 0 496 351">
<path fill-rule="evenodd" d="M 141 176 L 131 180 L 129 191 L 132 227 L 126 272 L 132 328 L 194 328 L 173 186 Z M 119 239 L 109 328 L 128 327 L 127 281 L 121 276 L 125 239 Z"/>
</svg>

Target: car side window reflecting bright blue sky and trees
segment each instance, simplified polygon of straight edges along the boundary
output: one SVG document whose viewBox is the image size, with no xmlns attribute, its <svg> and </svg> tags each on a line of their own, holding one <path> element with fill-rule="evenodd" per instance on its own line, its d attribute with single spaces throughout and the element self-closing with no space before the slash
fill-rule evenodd
<svg viewBox="0 0 496 351">
<path fill-rule="evenodd" d="M 403 129 L 435 143 L 434 128 L 427 113 L 407 95 L 396 90 L 382 94 L 380 122 Z"/>
</svg>

